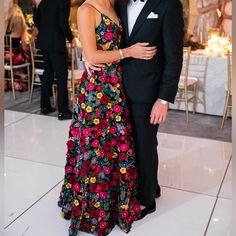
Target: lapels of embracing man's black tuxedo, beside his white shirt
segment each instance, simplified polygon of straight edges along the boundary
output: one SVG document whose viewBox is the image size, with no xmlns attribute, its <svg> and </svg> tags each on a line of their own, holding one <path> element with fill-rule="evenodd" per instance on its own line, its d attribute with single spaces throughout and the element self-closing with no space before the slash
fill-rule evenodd
<svg viewBox="0 0 236 236">
<path fill-rule="evenodd" d="M 135 34 L 139 31 L 142 24 L 145 22 L 145 20 L 147 20 L 147 17 L 150 14 L 150 12 L 159 4 L 160 1 L 161 0 L 147 0 L 146 4 L 144 5 L 142 11 L 140 12 L 135 22 L 129 40 L 131 40 L 135 36 Z M 126 18 L 127 18 L 127 7 L 126 7 Z M 128 25 L 128 21 L 126 25 Z"/>
</svg>

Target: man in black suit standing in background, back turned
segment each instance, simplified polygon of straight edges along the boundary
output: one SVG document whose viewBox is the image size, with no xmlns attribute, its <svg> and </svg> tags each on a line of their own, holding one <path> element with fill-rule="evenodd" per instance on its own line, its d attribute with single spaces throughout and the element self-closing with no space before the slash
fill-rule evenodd
<svg viewBox="0 0 236 236">
<path fill-rule="evenodd" d="M 51 107 L 50 96 L 54 75 L 57 78 L 58 119 L 71 119 L 68 108 L 67 90 L 67 49 L 66 39 L 75 44 L 69 26 L 70 0 L 42 0 L 34 16 L 39 34 L 36 46 L 42 50 L 45 70 L 41 87 L 41 114 L 55 111 Z"/>
</svg>

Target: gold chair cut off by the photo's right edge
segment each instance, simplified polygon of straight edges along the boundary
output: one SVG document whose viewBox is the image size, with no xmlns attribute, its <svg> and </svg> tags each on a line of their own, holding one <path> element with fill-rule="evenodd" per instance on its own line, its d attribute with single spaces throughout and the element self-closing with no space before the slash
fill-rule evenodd
<svg viewBox="0 0 236 236">
<path fill-rule="evenodd" d="M 228 81 L 227 81 L 227 88 L 226 88 L 226 98 L 225 98 L 225 106 L 224 106 L 224 113 L 221 122 L 221 129 L 224 128 L 225 120 L 228 116 L 229 109 L 232 108 L 232 54 L 230 51 L 227 52 L 227 73 L 228 73 Z"/>
</svg>

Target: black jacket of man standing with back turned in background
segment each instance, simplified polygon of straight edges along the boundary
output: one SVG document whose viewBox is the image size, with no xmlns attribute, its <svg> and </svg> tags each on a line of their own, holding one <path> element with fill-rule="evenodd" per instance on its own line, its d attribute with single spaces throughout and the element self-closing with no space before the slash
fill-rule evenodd
<svg viewBox="0 0 236 236">
<path fill-rule="evenodd" d="M 66 38 L 72 41 L 69 26 L 70 0 L 42 0 L 34 15 L 39 34 L 36 46 L 57 52 L 66 52 Z"/>
</svg>

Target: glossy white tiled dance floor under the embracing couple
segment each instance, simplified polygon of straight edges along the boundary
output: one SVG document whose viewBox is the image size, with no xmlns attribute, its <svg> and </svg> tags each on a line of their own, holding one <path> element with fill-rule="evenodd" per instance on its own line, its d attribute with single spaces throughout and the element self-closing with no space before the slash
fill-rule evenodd
<svg viewBox="0 0 236 236">
<path fill-rule="evenodd" d="M 70 121 L 5 111 L 5 235 L 66 236 L 57 199 Z M 229 236 L 231 143 L 159 133 L 157 211 L 131 236 Z M 86 234 L 80 233 L 85 236 Z M 126 235 L 117 227 L 111 236 Z"/>
</svg>

